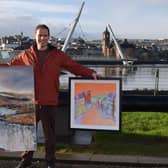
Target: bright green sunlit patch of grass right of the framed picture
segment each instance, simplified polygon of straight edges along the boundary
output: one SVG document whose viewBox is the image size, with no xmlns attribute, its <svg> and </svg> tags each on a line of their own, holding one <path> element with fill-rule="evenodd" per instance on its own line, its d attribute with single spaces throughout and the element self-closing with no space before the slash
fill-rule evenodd
<svg viewBox="0 0 168 168">
<path fill-rule="evenodd" d="M 125 133 L 168 137 L 168 113 L 125 112 L 122 126 Z"/>
</svg>

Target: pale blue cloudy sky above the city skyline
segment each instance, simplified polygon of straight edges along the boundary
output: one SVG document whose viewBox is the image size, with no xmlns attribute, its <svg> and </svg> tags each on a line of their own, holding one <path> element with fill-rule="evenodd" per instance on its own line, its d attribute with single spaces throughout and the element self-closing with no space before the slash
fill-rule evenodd
<svg viewBox="0 0 168 168">
<path fill-rule="evenodd" d="M 75 36 L 101 39 L 110 24 L 117 38 L 168 38 L 168 0 L 0 0 L 0 37 L 33 37 L 39 23 L 54 37 L 66 36 L 82 2 Z"/>
</svg>

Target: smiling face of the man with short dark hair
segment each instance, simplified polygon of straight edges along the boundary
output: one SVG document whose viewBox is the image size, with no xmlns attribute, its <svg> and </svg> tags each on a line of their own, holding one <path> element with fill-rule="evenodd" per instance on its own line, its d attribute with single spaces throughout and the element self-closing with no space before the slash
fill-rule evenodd
<svg viewBox="0 0 168 168">
<path fill-rule="evenodd" d="M 35 40 L 38 50 L 46 50 L 48 46 L 49 34 L 47 29 L 39 28 L 35 32 Z"/>
</svg>

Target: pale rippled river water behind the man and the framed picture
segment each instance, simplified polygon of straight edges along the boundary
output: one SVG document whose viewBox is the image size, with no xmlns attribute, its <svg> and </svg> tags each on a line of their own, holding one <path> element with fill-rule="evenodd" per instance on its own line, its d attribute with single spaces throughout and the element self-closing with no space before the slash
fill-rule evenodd
<svg viewBox="0 0 168 168">
<path fill-rule="evenodd" d="M 122 90 L 168 90 L 168 65 L 88 65 L 102 77 L 122 79 Z M 68 88 L 68 78 L 73 76 L 71 73 L 62 75 L 60 83 L 62 89 Z"/>
</svg>

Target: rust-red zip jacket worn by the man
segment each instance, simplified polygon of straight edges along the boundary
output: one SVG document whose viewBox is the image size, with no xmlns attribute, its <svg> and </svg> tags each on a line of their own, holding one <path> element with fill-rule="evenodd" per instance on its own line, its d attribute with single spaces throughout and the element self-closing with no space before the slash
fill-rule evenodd
<svg viewBox="0 0 168 168">
<path fill-rule="evenodd" d="M 50 47 L 43 66 L 36 55 L 35 46 L 21 52 L 6 65 L 32 65 L 35 79 L 35 101 L 40 105 L 58 105 L 59 76 L 62 69 L 83 77 L 92 77 L 93 70 L 73 61 L 70 56 Z"/>
</svg>

